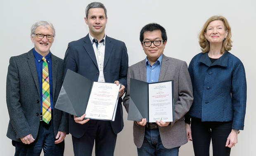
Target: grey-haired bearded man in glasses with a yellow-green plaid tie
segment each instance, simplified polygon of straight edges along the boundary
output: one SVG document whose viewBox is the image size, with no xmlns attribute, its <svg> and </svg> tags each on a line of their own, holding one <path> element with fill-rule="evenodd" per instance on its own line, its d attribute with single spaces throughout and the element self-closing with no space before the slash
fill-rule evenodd
<svg viewBox="0 0 256 156">
<path fill-rule="evenodd" d="M 9 61 L 7 137 L 15 146 L 15 156 L 40 156 L 42 149 L 45 156 L 64 154 L 68 114 L 54 109 L 62 87 L 64 62 L 50 52 L 54 37 L 51 23 L 36 22 L 31 27 L 34 48 Z"/>
</svg>

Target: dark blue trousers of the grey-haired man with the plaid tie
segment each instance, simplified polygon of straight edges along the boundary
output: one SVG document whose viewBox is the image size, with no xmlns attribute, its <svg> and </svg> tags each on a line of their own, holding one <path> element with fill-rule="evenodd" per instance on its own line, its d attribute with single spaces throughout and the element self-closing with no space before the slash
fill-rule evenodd
<svg viewBox="0 0 256 156">
<path fill-rule="evenodd" d="M 52 121 L 49 124 L 40 122 L 38 136 L 31 144 L 28 145 L 12 140 L 12 145 L 15 146 L 14 156 L 40 156 L 42 149 L 45 156 L 63 156 L 64 141 L 59 144 L 55 144 L 54 142 L 55 136 Z"/>
</svg>

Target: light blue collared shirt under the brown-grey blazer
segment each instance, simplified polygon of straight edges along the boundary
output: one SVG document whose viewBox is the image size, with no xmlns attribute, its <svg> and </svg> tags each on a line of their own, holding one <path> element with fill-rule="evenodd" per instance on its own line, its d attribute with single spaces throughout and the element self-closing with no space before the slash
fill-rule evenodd
<svg viewBox="0 0 256 156">
<path fill-rule="evenodd" d="M 147 83 L 158 82 L 162 59 L 163 59 L 163 54 L 159 56 L 156 62 L 151 66 L 146 57 Z"/>
</svg>

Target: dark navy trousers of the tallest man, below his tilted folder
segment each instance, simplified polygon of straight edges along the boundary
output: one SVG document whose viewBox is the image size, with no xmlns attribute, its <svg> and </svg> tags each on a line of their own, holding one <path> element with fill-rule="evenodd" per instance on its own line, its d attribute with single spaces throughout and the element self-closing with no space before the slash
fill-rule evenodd
<svg viewBox="0 0 256 156">
<path fill-rule="evenodd" d="M 90 120 L 90 124 L 81 138 L 72 135 L 75 156 L 91 156 L 95 141 L 95 156 L 113 156 L 117 134 L 109 121 Z"/>
</svg>

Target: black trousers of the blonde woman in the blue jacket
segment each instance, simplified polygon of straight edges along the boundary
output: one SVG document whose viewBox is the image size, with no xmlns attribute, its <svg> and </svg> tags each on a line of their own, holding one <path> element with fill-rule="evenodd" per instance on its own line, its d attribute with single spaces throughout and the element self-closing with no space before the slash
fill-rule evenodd
<svg viewBox="0 0 256 156">
<path fill-rule="evenodd" d="M 209 156 L 212 141 L 213 156 L 230 156 L 231 148 L 225 147 L 228 135 L 232 131 L 230 122 L 201 122 L 191 118 L 191 133 L 195 156 Z"/>
</svg>

